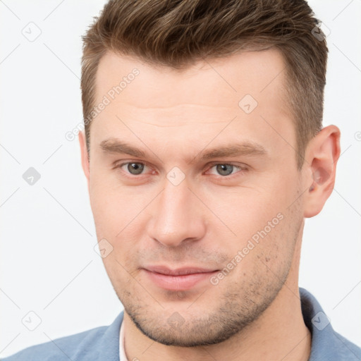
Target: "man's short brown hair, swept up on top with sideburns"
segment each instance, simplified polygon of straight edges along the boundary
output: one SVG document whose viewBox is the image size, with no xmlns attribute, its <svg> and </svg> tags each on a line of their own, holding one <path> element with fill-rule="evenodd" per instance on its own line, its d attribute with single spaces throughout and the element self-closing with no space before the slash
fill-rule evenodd
<svg viewBox="0 0 361 361">
<path fill-rule="evenodd" d="M 110 0 L 83 37 L 88 154 L 95 77 L 106 51 L 182 70 L 202 59 L 275 47 L 286 61 L 286 98 L 302 169 L 307 144 L 322 129 L 328 49 L 317 25 L 304 0 Z"/>
</svg>

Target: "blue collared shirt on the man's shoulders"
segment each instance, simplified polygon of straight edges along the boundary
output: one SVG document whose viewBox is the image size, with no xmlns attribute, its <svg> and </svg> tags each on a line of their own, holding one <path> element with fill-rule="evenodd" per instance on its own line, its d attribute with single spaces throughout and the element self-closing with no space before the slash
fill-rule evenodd
<svg viewBox="0 0 361 361">
<path fill-rule="evenodd" d="M 338 334 L 316 298 L 300 288 L 302 316 L 312 334 L 309 361 L 361 361 L 361 348 Z M 123 312 L 110 326 L 25 348 L 3 361 L 120 361 L 119 330 Z"/>
</svg>

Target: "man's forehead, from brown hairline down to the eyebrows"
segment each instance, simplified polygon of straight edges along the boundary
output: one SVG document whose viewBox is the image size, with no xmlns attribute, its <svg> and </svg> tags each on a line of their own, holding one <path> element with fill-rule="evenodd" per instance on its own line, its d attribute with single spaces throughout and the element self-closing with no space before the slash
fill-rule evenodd
<svg viewBox="0 0 361 361">
<path fill-rule="evenodd" d="M 284 152 L 281 138 L 295 144 L 285 76 L 276 49 L 200 61 L 184 71 L 106 54 L 97 71 L 95 103 L 106 98 L 107 105 L 92 121 L 91 149 L 110 137 L 131 137 L 137 147 L 149 142 L 153 152 L 177 159 L 209 142 L 238 140 Z"/>
</svg>

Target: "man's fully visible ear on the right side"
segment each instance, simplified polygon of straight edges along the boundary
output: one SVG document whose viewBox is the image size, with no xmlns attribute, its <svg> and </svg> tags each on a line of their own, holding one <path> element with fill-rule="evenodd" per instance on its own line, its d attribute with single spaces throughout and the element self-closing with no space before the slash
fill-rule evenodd
<svg viewBox="0 0 361 361">
<path fill-rule="evenodd" d="M 305 154 L 304 216 L 310 218 L 321 212 L 334 190 L 336 164 L 340 157 L 340 130 L 336 126 L 323 128 L 307 146 Z"/>
</svg>

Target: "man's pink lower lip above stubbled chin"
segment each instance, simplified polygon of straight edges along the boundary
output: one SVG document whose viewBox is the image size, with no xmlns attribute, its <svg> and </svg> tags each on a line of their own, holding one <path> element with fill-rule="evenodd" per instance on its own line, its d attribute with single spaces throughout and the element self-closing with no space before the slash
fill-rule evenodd
<svg viewBox="0 0 361 361">
<path fill-rule="evenodd" d="M 166 274 L 159 274 L 157 272 L 148 271 L 147 269 L 144 269 L 144 271 L 157 286 L 165 288 L 166 290 L 190 290 L 190 288 L 193 288 L 197 283 L 209 280 L 210 277 L 218 272 L 214 271 L 200 274 L 169 276 Z"/>
</svg>

